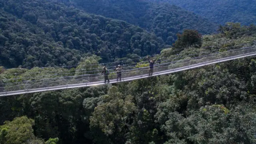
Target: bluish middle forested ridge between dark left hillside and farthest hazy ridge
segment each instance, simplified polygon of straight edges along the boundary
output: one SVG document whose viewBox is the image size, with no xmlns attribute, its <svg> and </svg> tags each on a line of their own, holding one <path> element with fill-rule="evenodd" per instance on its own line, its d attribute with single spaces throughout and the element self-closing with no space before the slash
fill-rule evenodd
<svg viewBox="0 0 256 144">
<path fill-rule="evenodd" d="M 72 0 L 86 12 L 124 20 L 154 32 L 168 45 L 175 42 L 178 32 L 195 29 L 202 34 L 215 32 L 217 24 L 171 4 L 147 0 Z"/>
</svg>

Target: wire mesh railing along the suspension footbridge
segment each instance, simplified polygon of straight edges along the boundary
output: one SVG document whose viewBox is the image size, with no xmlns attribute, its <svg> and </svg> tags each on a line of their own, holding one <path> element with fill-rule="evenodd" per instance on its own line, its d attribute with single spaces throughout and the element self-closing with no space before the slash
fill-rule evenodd
<svg viewBox="0 0 256 144">
<path fill-rule="evenodd" d="M 226 50 L 224 52 L 215 52 L 212 54 L 206 54 L 194 58 L 186 58 L 182 60 L 166 59 L 162 60 L 154 65 L 153 76 L 163 71 L 168 71 L 176 68 L 182 68 L 184 66 L 191 66 L 213 60 L 229 58 L 232 56 L 238 56 L 242 54 L 250 54 L 256 52 L 256 46 L 243 47 L 238 49 Z M 132 77 L 142 77 L 149 75 L 149 67 L 132 67 L 128 70 L 123 70 L 121 73 L 122 81 L 129 80 Z M 103 84 L 104 74 L 81 74 L 76 76 L 61 76 L 54 78 L 43 78 L 36 80 L 21 80 L 14 81 L 2 80 L 0 81 L 0 93 L 12 92 L 19 90 L 30 90 L 38 88 L 60 87 L 72 84 Z M 117 81 L 116 72 L 110 72 L 108 78 L 111 82 Z"/>
</svg>

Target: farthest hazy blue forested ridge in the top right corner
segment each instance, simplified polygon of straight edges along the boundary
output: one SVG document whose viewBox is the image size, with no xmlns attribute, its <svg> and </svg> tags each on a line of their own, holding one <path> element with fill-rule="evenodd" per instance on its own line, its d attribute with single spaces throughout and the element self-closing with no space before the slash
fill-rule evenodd
<svg viewBox="0 0 256 144">
<path fill-rule="evenodd" d="M 151 0 L 167 2 L 195 12 L 212 22 L 256 24 L 256 0 Z"/>
</svg>

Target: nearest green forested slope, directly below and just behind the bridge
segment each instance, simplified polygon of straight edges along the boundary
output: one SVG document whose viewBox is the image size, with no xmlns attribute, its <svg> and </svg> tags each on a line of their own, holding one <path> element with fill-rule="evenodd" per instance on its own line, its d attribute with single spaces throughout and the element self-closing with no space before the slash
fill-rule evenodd
<svg viewBox="0 0 256 144">
<path fill-rule="evenodd" d="M 201 37 L 185 30 L 161 56 L 188 58 L 256 45 L 255 25 L 228 23 L 219 31 Z M 63 70 L 0 68 L 0 80 L 36 77 L 50 69 Z M 255 84 L 254 56 L 132 82 L 2 97 L 0 142 L 255 144 Z"/>
</svg>

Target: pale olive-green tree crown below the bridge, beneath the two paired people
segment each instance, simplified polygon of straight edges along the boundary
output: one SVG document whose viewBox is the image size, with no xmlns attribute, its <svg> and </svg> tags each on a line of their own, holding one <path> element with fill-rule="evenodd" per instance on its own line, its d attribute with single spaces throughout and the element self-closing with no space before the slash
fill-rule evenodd
<svg viewBox="0 0 256 144">
<path fill-rule="evenodd" d="M 115 133 L 115 130 L 122 130 L 126 125 L 126 116 L 136 110 L 132 102 L 132 96 L 124 96 L 113 86 L 108 95 L 103 98 L 103 103 L 94 108 L 90 117 L 90 126 L 102 129 L 107 136 Z M 118 131 L 119 133 L 121 131 Z"/>
</svg>

